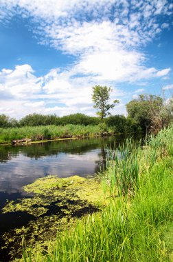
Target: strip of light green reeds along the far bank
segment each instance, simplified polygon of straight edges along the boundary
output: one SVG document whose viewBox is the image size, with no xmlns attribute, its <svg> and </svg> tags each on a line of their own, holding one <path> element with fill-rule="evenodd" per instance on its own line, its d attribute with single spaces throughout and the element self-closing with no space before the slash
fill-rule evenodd
<svg viewBox="0 0 173 262">
<path fill-rule="evenodd" d="M 11 143 L 16 139 L 32 139 L 40 141 L 45 139 L 60 139 L 71 137 L 96 136 L 104 132 L 101 125 L 47 125 L 23 128 L 0 128 L 0 143 Z M 113 132 L 106 128 L 107 132 Z"/>
</svg>

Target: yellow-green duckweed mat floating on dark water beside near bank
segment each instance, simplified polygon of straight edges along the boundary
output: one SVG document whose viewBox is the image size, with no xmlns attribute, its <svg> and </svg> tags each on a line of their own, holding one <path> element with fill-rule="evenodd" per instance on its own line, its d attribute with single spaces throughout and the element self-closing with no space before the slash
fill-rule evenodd
<svg viewBox="0 0 173 262">
<path fill-rule="evenodd" d="M 23 190 L 29 198 L 8 201 L 3 213 L 27 212 L 33 219 L 21 228 L 3 234 L 5 246 L 15 261 L 21 256 L 22 239 L 27 245 L 39 243 L 47 248 L 49 241 L 56 241 L 58 226 L 63 224 L 73 228 L 76 218 L 96 212 L 108 203 L 109 194 L 104 190 L 99 176 L 60 179 L 47 176 L 37 179 Z"/>
</svg>

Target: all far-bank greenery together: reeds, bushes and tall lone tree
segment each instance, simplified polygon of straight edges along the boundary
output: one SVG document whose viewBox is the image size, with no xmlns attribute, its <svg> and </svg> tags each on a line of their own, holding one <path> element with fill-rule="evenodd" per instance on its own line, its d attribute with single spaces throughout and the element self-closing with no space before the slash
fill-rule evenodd
<svg viewBox="0 0 173 262">
<path fill-rule="evenodd" d="M 108 103 L 110 88 L 96 85 L 93 88 L 94 107 L 99 117 L 85 114 L 70 114 L 64 117 L 43 114 L 28 114 L 19 121 L 0 114 L 0 143 L 16 139 L 43 141 L 71 137 L 97 136 L 106 133 L 153 132 L 168 127 L 173 121 L 173 99 L 165 101 L 152 94 L 141 94 L 127 103 L 128 115 L 109 116 L 114 104 Z M 114 103 L 119 103 L 115 100 Z"/>
</svg>

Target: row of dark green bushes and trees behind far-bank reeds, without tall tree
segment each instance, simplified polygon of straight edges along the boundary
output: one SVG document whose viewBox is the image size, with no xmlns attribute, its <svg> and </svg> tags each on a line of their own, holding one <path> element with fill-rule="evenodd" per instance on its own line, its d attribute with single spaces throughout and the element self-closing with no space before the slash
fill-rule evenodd
<svg viewBox="0 0 173 262">
<path fill-rule="evenodd" d="M 127 117 L 110 115 L 109 117 L 89 117 L 85 114 L 69 114 L 58 117 L 56 114 L 28 114 L 19 121 L 0 114 L 0 128 L 13 128 L 38 125 L 100 125 L 106 132 L 111 127 L 114 132 L 158 132 L 173 121 L 173 99 L 165 101 L 159 96 L 141 94 L 126 105 Z"/>
</svg>

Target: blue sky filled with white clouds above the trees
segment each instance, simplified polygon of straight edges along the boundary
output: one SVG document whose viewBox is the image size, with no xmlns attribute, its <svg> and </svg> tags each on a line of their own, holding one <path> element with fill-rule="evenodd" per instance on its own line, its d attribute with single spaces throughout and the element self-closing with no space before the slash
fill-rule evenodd
<svg viewBox="0 0 173 262">
<path fill-rule="evenodd" d="M 0 114 L 95 115 L 92 86 L 119 99 L 173 92 L 170 0 L 0 0 Z"/>
</svg>

